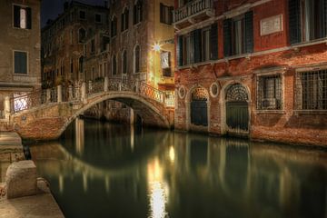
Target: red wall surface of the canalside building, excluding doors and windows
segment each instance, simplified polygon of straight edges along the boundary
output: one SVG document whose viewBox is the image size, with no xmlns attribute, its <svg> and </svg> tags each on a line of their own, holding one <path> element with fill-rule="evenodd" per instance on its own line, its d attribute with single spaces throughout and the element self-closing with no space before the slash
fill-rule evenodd
<svg viewBox="0 0 327 218">
<path fill-rule="evenodd" d="M 229 1 L 225 8 L 217 6 L 216 15 L 223 10 L 239 7 L 242 1 Z M 256 1 L 247 1 L 253 3 Z M 260 35 L 260 21 L 272 15 L 282 14 L 282 32 Z M 250 131 L 253 140 L 267 140 L 292 144 L 315 144 L 327 146 L 327 113 L 297 113 L 295 110 L 296 69 L 310 66 L 327 67 L 327 45 L 324 40 L 311 45 L 290 46 L 288 43 L 287 1 L 272 0 L 253 7 L 254 53 L 243 57 L 223 59 L 223 20 L 218 20 L 219 60 L 209 64 L 197 64 L 192 68 L 180 68 L 175 72 L 176 93 L 185 87 L 184 98 L 176 94 L 175 128 L 179 130 L 201 131 L 210 134 L 226 134 L 224 94 L 229 84 L 240 83 L 249 91 Z M 274 49 L 274 50 L 272 50 Z M 281 112 L 260 112 L 256 110 L 255 71 L 277 67 L 284 77 L 283 110 Z M 213 83 L 219 84 L 219 94 L 208 94 L 209 126 L 190 124 L 188 104 L 194 87 L 203 87 L 210 92 Z"/>
</svg>

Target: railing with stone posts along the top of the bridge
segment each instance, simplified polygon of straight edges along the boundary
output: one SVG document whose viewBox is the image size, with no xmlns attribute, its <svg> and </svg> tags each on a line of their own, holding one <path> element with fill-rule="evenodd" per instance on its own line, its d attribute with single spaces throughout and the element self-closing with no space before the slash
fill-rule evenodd
<svg viewBox="0 0 327 218">
<path fill-rule="evenodd" d="M 84 85 L 85 94 L 98 94 L 108 91 L 129 91 L 140 94 L 146 98 L 164 104 L 166 106 L 173 106 L 173 94 L 167 94 L 160 91 L 149 84 L 143 82 L 128 80 L 126 78 L 111 78 L 107 81 L 98 81 L 95 83 L 88 83 Z M 58 96 L 58 89 L 61 91 L 61 96 Z M 61 102 L 81 101 L 83 86 L 79 84 L 58 86 L 52 89 L 37 90 L 34 93 L 15 95 L 10 99 L 11 113 L 15 114 L 21 111 L 30 110 L 41 104 Z"/>
</svg>

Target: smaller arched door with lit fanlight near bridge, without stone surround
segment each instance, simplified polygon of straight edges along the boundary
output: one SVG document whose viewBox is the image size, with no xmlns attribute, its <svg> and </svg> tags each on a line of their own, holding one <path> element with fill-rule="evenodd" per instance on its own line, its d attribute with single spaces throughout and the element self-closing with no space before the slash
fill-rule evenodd
<svg viewBox="0 0 327 218">
<path fill-rule="evenodd" d="M 191 96 L 191 124 L 208 125 L 207 95 L 206 90 L 201 87 L 193 90 Z"/>
</svg>

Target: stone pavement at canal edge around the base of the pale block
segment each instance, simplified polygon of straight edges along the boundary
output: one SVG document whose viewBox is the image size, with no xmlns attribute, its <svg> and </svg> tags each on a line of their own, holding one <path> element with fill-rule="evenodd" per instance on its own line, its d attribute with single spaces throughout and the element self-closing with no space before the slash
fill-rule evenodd
<svg viewBox="0 0 327 218">
<path fill-rule="evenodd" d="M 0 196 L 0 218 L 64 217 L 46 182 L 39 179 L 37 187 L 38 193 L 33 196 L 10 200 Z"/>
</svg>

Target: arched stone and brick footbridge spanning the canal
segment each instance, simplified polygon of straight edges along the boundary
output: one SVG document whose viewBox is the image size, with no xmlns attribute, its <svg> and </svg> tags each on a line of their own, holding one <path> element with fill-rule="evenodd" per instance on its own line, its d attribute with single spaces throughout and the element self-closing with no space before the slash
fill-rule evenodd
<svg viewBox="0 0 327 218">
<path fill-rule="evenodd" d="M 127 104 L 146 125 L 173 126 L 173 96 L 142 82 L 108 79 L 92 84 L 59 85 L 55 89 L 14 96 L 5 104 L 9 123 L 24 139 L 52 140 L 84 111 L 114 100 Z M 9 104 L 9 105 L 8 105 Z"/>
</svg>

